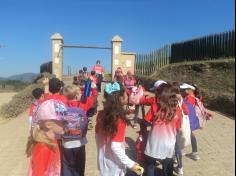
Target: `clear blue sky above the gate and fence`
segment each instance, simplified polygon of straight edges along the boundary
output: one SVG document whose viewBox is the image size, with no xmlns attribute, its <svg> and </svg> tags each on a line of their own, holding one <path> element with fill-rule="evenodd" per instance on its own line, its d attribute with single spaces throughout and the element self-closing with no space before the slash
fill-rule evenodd
<svg viewBox="0 0 236 176">
<path fill-rule="evenodd" d="M 234 0 L 2 0 L 0 1 L 0 77 L 39 72 L 52 57 L 50 37 L 65 44 L 111 45 L 145 53 L 165 44 L 235 28 Z M 110 70 L 106 50 L 65 49 L 64 68 L 73 71 L 97 59 Z"/>
</svg>

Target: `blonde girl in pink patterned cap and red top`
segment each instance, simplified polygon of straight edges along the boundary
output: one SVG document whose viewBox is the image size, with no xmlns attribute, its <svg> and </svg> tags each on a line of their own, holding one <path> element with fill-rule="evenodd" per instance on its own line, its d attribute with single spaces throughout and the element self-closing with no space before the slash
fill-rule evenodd
<svg viewBox="0 0 236 176">
<path fill-rule="evenodd" d="M 54 100 L 43 102 L 33 117 L 26 154 L 30 158 L 29 176 L 60 176 L 60 152 L 56 136 L 64 134 L 62 118 Z"/>
</svg>

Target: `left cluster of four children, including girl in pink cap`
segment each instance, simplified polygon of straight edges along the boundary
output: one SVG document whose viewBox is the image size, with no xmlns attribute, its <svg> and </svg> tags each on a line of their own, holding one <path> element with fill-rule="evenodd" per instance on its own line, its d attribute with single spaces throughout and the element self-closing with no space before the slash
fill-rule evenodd
<svg viewBox="0 0 236 176">
<path fill-rule="evenodd" d="M 69 108 L 79 108 L 85 113 L 94 109 L 98 97 L 96 86 L 92 85 L 91 95 L 82 100 L 84 86 L 63 87 L 57 78 L 45 79 L 43 84 L 44 90 L 37 88 L 32 92 L 36 101 L 29 114 L 30 137 L 26 149 L 29 175 L 84 176 L 86 135 L 65 138 L 68 121 L 63 118 L 63 112 Z"/>
</svg>

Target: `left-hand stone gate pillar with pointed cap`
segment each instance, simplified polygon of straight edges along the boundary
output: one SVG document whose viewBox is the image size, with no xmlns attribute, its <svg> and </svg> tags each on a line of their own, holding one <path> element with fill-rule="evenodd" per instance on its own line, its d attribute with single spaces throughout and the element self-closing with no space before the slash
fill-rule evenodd
<svg viewBox="0 0 236 176">
<path fill-rule="evenodd" d="M 60 80 L 63 76 L 63 37 L 55 33 L 52 40 L 52 73 Z"/>
</svg>

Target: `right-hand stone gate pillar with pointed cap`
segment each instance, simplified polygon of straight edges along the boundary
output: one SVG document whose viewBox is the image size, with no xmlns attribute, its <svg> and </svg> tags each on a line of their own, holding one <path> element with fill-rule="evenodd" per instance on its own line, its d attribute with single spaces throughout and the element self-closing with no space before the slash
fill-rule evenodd
<svg viewBox="0 0 236 176">
<path fill-rule="evenodd" d="M 122 46 L 123 39 L 116 35 L 113 37 L 111 44 L 112 44 L 112 58 L 111 58 L 111 75 L 112 79 L 115 75 L 115 70 L 120 65 L 120 58 L 121 58 L 121 46 Z"/>
</svg>

